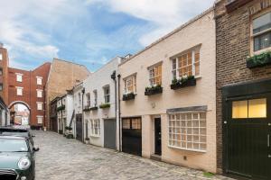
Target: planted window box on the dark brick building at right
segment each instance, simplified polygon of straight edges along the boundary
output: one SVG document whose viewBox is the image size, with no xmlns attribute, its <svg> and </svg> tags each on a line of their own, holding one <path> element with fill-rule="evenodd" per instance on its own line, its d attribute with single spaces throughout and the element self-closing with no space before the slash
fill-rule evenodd
<svg viewBox="0 0 271 180">
<path fill-rule="evenodd" d="M 264 67 L 271 64 L 271 51 L 247 58 L 247 67 Z"/>
</svg>

